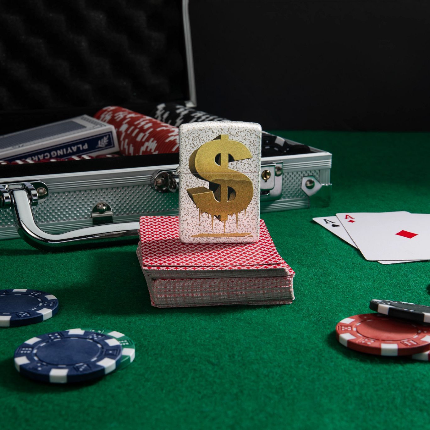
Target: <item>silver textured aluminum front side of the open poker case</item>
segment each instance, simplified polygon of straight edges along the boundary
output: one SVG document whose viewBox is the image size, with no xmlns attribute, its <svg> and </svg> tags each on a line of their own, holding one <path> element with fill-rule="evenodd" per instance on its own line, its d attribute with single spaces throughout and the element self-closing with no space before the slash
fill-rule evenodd
<svg viewBox="0 0 430 430">
<path fill-rule="evenodd" d="M 327 206 L 332 155 L 311 149 L 315 152 L 261 159 L 262 174 L 270 172 L 267 181 L 261 178 L 261 212 Z M 178 154 L 3 166 L 7 175 L 0 184 L 46 184 L 49 195 L 33 206 L 34 218 L 42 230 L 61 233 L 138 221 L 141 215 L 177 215 L 177 167 Z M 0 239 L 15 237 L 12 210 L 0 209 Z"/>
</svg>

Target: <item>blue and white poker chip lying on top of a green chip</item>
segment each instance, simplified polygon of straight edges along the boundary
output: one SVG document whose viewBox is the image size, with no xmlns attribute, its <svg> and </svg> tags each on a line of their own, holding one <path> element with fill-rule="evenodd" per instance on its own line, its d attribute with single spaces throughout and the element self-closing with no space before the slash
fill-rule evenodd
<svg viewBox="0 0 430 430">
<path fill-rule="evenodd" d="M 15 350 L 14 361 L 28 378 L 66 384 L 113 372 L 121 355 L 122 346 L 112 336 L 72 329 L 28 339 Z"/>
</svg>

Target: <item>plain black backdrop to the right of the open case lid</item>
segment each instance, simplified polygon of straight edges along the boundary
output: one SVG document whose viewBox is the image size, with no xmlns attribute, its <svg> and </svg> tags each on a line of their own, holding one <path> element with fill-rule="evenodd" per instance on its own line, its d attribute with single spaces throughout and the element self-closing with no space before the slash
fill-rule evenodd
<svg viewBox="0 0 430 430">
<path fill-rule="evenodd" d="M 427 131 L 430 2 L 191 0 L 197 104 L 264 129 Z"/>
</svg>

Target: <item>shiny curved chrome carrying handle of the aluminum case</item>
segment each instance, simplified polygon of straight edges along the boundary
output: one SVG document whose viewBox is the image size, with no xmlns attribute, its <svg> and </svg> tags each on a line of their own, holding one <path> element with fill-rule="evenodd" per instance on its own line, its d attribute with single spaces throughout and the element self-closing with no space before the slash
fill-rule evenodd
<svg viewBox="0 0 430 430">
<path fill-rule="evenodd" d="M 110 245 L 111 241 L 118 244 L 118 242 L 130 240 L 137 242 L 138 240 L 138 222 L 95 225 L 61 234 L 46 233 L 37 227 L 34 220 L 31 204 L 36 197 L 28 194 L 26 188 L 9 188 L 8 194 L 16 230 L 22 239 L 34 248 L 57 252 L 71 248 Z"/>
</svg>

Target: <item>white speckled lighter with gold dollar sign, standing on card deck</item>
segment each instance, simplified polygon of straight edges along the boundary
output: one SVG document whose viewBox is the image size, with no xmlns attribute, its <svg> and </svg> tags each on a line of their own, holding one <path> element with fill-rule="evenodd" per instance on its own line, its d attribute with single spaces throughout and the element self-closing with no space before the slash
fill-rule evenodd
<svg viewBox="0 0 430 430">
<path fill-rule="evenodd" d="M 179 239 L 258 240 L 261 126 L 211 121 L 179 126 Z"/>
</svg>

